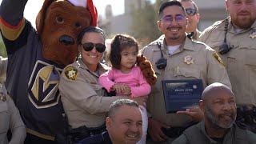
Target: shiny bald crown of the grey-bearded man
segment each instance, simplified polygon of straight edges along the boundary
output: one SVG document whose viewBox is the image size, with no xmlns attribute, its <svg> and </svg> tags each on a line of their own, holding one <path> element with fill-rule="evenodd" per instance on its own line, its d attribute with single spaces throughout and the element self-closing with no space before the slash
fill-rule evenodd
<svg viewBox="0 0 256 144">
<path fill-rule="evenodd" d="M 222 83 L 215 82 L 206 87 L 202 92 L 202 101 L 207 101 L 210 98 L 214 98 L 214 96 L 219 93 L 226 93 L 230 96 L 234 97 L 232 90 L 228 86 L 223 85 Z"/>
</svg>

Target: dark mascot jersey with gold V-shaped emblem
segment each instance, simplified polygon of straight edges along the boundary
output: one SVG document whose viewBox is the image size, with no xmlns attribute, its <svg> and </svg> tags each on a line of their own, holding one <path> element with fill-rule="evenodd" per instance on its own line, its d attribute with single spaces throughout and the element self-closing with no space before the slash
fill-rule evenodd
<svg viewBox="0 0 256 144">
<path fill-rule="evenodd" d="M 39 35 L 25 18 L 26 1 L 3 0 L 0 28 L 8 54 L 6 88 L 20 110 L 27 132 L 48 140 L 63 129 L 58 91 L 62 66 L 42 57 Z"/>
</svg>

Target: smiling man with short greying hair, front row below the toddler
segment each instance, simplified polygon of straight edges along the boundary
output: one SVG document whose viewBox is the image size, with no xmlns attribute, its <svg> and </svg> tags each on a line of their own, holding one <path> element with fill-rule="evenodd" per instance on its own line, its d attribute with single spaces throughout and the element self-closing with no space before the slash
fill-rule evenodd
<svg viewBox="0 0 256 144">
<path fill-rule="evenodd" d="M 142 138 L 142 114 L 137 102 L 120 99 L 110 106 L 107 132 L 82 140 L 82 144 L 135 144 Z"/>
</svg>

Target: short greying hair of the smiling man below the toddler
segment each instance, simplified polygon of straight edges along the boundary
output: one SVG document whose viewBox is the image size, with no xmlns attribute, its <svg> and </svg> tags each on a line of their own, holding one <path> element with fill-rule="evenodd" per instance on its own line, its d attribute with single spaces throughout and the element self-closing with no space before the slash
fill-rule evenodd
<svg viewBox="0 0 256 144">
<path fill-rule="evenodd" d="M 114 118 L 115 112 L 121 107 L 121 106 L 134 106 L 139 107 L 138 103 L 134 100 L 130 99 L 118 99 L 117 101 L 113 102 L 110 106 L 110 110 L 108 112 L 108 116 L 110 118 Z"/>
</svg>

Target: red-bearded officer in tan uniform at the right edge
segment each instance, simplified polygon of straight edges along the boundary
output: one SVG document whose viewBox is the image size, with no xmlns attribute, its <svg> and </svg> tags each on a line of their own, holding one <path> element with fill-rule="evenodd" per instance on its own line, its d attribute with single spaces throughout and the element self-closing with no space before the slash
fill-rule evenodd
<svg viewBox="0 0 256 144">
<path fill-rule="evenodd" d="M 226 10 L 230 18 L 215 22 L 199 40 L 218 51 L 226 65 L 238 105 L 238 126 L 256 133 L 256 1 L 226 0 Z"/>
</svg>

